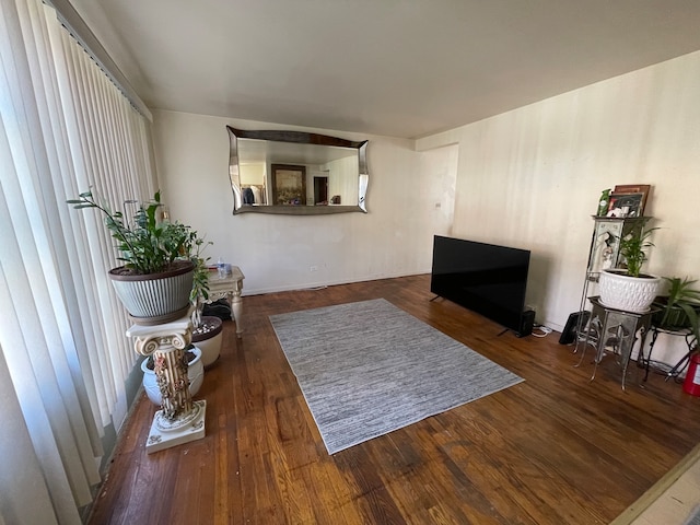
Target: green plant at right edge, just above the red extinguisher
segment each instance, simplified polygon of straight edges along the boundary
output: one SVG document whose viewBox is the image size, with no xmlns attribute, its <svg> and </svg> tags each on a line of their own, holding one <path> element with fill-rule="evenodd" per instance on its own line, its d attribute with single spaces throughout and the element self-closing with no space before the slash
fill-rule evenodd
<svg viewBox="0 0 700 525">
<path fill-rule="evenodd" d="M 688 277 L 663 279 L 668 283 L 668 294 L 654 301 L 654 305 L 661 308 L 654 314 L 654 323 L 667 330 L 690 329 L 696 341 L 700 341 L 700 290 L 692 288 L 698 281 Z"/>
</svg>

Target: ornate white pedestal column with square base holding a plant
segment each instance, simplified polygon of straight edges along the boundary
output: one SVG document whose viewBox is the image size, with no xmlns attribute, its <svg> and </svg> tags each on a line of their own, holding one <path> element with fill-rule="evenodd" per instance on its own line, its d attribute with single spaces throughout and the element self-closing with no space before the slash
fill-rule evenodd
<svg viewBox="0 0 700 525">
<path fill-rule="evenodd" d="M 163 325 L 133 325 L 127 330 L 127 336 L 136 338 L 137 353 L 153 355 L 163 398 L 145 444 L 149 454 L 205 436 L 207 401 L 192 401 L 185 361 L 191 328 L 189 317 L 183 317 Z"/>
</svg>

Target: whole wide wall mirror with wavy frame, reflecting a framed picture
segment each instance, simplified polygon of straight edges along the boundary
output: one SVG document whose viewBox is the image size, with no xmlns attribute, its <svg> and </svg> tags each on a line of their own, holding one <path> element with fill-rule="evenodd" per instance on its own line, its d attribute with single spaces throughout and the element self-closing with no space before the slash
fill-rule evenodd
<svg viewBox="0 0 700 525">
<path fill-rule="evenodd" d="M 226 129 L 234 214 L 366 213 L 366 140 Z"/>
</svg>

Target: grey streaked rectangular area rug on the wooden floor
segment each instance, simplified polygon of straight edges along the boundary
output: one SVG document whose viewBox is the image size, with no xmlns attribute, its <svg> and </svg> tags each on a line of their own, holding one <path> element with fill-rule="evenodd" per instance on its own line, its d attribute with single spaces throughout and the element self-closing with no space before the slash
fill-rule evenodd
<svg viewBox="0 0 700 525">
<path fill-rule="evenodd" d="M 384 299 L 270 322 L 329 454 L 523 381 Z"/>
</svg>

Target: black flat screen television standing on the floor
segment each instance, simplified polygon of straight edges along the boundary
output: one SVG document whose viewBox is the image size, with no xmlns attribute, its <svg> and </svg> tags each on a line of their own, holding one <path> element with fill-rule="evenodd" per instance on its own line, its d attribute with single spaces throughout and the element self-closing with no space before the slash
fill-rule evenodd
<svg viewBox="0 0 700 525">
<path fill-rule="evenodd" d="M 529 250 L 435 235 L 430 291 L 521 331 Z"/>
</svg>

